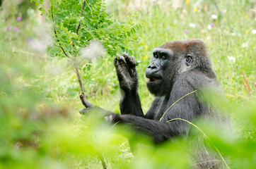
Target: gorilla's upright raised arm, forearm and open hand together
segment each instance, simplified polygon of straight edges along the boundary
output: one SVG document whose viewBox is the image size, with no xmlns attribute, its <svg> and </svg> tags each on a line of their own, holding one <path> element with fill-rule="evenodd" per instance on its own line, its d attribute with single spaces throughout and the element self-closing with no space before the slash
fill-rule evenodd
<svg viewBox="0 0 256 169">
<path fill-rule="evenodd" d="M 121 114 L 144 117 L 138 94 L 138 77 L 134 56 L 129 57 L 124 53 L 119 58 L 115 58 L 114 65 L 122 93 L 122 99 L 120 101 Z"/>
</svg>

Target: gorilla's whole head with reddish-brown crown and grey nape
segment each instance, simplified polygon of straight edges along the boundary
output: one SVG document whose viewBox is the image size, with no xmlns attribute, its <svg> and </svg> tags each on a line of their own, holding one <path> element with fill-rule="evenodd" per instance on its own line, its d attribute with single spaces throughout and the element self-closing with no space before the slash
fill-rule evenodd
<svg viewBox="0 0 256 169">
<path fill-rule="evenodd" d="M 192 70 L 215 77 L 204 42 L 199 39 L 167 42 L 153 49 L 152 61 L 146 68 L 147 87 L 156 96 L 170 94 L 175 78 Z"/>
</svg>

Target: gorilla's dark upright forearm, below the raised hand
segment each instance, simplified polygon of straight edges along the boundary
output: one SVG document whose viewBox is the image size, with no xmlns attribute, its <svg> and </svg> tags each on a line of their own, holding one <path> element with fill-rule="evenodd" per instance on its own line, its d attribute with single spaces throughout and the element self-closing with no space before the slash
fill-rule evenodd
<svg viewBox="0 0 256 169">
<path fill-rule="evenodd" d="M 121 92 L 123 97 L 120 101 L 121 114 L 130 114 L 144 117 L 144 113 L 141 108 L 141 101 L 139 99 L 138 89 L 129 92 L 124 92 L 121 89 Z"/>
</svg>

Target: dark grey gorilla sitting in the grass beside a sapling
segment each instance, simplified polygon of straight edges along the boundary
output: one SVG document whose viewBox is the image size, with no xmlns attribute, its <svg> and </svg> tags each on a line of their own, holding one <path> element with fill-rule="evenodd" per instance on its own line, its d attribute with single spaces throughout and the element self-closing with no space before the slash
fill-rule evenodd
<svg viewBox="0 0 256 169">
<path fill-rule="evenodd" d="M 134 56 L 122 54 L 115 58 L 114 65 L 122 91 L 121 114 L 107 111 L 105 120 L 108 122 L 129 124 L 136 133 L 147 134 L 153 142 L 160 144 L 174 137 L 187 137 L 190 127 L 185 120 L 193 122 L 201 117 L 217 119 L 214 115 L 216 111 L 202 101 L 206 97 L 204 89 L 215 89 L 219 84 L 201 40 L 172 41 L 153 49 L 153 58 L 146 68 L 146 84 L 149 92 L 156 97 L 146 114 L 139 99 Z M 81 109 L 81 113 L 86 111 L 88 108 Z M 173 120 L 177 118 L 184 120 Z M 216 156 L 213 156 L 208 156 L 208 152 L 197 153 L 196 168 L 221 168 L 222 165 L 217 165 L 214 161 Z"/>
</svg>

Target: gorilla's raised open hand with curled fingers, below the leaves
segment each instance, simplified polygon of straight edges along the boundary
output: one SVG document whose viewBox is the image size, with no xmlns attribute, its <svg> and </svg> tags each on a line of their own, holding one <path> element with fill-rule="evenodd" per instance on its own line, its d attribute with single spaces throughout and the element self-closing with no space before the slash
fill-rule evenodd
<svg viewBox="0 0 256 169">
<path fill-rule="evenodd" d="M 120 88 L 124 92 L 135 90 L 138 86 L 136 71 L 136 60 L 134 56 L 129 57 L 126 53 L 114 60 L 115 70 L 120 83 Z"/>
</svg>

